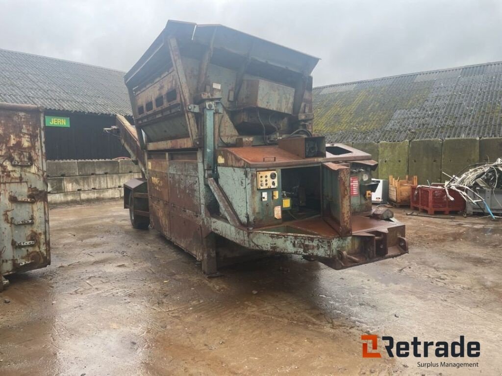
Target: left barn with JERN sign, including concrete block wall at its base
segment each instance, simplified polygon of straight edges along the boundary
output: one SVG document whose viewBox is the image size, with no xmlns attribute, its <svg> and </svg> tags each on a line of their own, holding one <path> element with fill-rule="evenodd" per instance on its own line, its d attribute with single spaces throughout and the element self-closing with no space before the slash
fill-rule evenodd
<svg viewBox="0 0 502 376">
<path fill-rule="evenodd" d="M 45 109 L 50 204 L 117 199 L 141 171 L 104 133 L 115 114 L 132 119 L 124 72 L 0 49 L 0 102 Z M 116 160 L 113 160 L 116 159 Z"/>
</svg>

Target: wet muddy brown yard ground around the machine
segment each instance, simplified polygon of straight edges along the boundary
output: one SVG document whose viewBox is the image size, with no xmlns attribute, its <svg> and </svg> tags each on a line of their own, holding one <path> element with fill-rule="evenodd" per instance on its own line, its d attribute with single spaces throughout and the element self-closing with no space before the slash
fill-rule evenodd
<svg viewBox="0 0 502 376">
<path fill-rule="evenodd" d="M 344 271 L 266 259 L 207 279 L 155 231 L 134 230 L 119 201 L 53 209 L 52 265 L 0 294 L 0 374 L 500 374 L 500 222 L 396 214 L 409 255 Z M 364 333 L 465 335 L 481 356 L 447 360 L 479 367 L 362 358 Z"/>
</svg>

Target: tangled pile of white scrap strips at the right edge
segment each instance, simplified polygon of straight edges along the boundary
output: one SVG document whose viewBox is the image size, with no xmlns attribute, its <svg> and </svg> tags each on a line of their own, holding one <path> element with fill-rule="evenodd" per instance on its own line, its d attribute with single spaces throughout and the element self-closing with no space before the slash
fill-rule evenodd
<svg viewBox="0 0 502 376">
<path fill-rule="evenodd" d="M 445 183 L 447 195 L 448 189 L 456 191 L 467 203 L 479 206 L 494 218 L 485 198 L 479 195 L 479 190 L 488 190 L 492 193 L 495 193 L 495 190 L 502 190 L 502 158 L 498 158 L 494 163 L 486 163 L 471 168 L 460 176 L 447 176 L 450 177 L 450 180 Z M 448 198 L 453 200 L 449 195 Z M 502 208 L 502 205 L 496 199 L 496 195 L 493 195 L 493 198 L 498 207 Z"/>
</svg>

